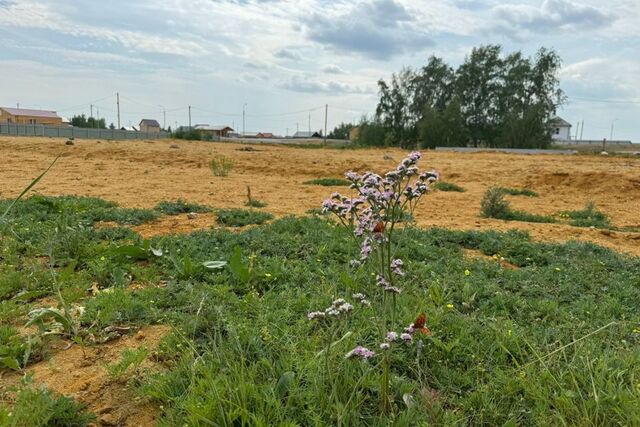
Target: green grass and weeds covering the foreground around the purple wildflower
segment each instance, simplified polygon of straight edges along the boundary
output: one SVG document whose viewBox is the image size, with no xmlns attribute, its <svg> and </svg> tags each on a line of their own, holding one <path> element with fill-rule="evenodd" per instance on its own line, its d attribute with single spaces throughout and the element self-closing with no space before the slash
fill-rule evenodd
<svg viewBox="0 0 640 427">
<path fill-rule="evenodd" d="M 20 201 L 0 224 L 3 343 L 24 356 L 26 337 L 15 330 L 57 286 L 85 308 L 85 337 L 102 337 L 110 326 L 171 324 L 159 348 L 149 349 L 164 370 L 138 370 L 142 350 L 111 367 L 114 377 L 139 371 L 141 386 L 131 386 L 162 405 L 164 425 L 640 424 L 639 258 L 587 243 L 535 242 L 523 232 L 402 227 L 398 321 L 424 312 L 432 335 L 422 347 L 394 352 L 393 412 L 381 415 L 377 360 L 344 360 L 375 339 L 374 313 L 355 309 L 331 328 L 306 318 L 336 296 L 381 298 L 371 271 L 348 270 L 359 248 L 332 222 L 287 217 L 240 231 L 161 236 L 149 244 L 165 255 L 137 261 L 114 249 L 143 245 L 138 235 L 95 229 L 89 220 L 117 207 L 55 202 L 53 209 Z M 467 258 L 465 249 L 515 268 Z M 209 260 L 229 264 L 199 267 Z M 133 290 L 131 278 L 166 286 Z M 97 281 L 111 291 L 87 294 Z M 318 356 L 327 342 L 331 352 Z M 90 422 L 82 405 L 60 399 L 22 386 L 0 403 L 0 425 Z"/>
</svg>

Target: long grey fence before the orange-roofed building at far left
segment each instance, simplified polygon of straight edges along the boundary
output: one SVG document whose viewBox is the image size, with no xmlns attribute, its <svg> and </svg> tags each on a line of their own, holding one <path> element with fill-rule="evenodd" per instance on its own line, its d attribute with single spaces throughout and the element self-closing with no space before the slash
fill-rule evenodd
<svg viewBox="0 0 640 427">
<path fill-rule="evenodd" d="M 0 135 L 45 136 L 52 138 L 85 139 L 159 139 L 167 138 L 168 132 L 135 132 L 119 129 L 78 128 L 74 126 L 27 125 L 0 123 Z"/>
</svg>

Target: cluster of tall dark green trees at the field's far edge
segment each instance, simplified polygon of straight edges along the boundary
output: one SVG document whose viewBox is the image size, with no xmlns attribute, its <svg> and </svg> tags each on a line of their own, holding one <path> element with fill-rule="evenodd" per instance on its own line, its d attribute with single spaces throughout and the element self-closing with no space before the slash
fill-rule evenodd
<svg viewBox="0 0 640 427">
<path fill-rule="evenodd" d="M 561 59 L 541 48 L 533 57 L 503 55 L 498 45 L 474 48 L 454 69 L 431 56 L 378 81 L 375 115 L 357 125 L 356 142 L 372 146 L 547 148 L 550 119 L 565 101 Z M 329 137 L 348 137 L 353 124 Z"/>
</svg>

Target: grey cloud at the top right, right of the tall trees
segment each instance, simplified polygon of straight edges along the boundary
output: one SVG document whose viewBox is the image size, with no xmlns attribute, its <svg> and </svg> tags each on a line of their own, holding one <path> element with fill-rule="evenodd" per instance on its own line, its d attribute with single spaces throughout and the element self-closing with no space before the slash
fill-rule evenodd
<svg viewBox="0 0 640 427">
<path fill-rule="evenodd" d="M 494 9 L 494 28 L 518 38 L 520 32 L 595 29 L 609 25 L 614 17 L 602 10 L 570 0 L 544 0 L 540 7 L 500 5 Z"/>
</svg>

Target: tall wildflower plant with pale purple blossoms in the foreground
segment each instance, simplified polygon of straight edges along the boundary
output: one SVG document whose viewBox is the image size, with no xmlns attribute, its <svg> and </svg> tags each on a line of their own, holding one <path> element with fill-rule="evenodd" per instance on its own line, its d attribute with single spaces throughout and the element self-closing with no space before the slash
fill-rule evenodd
<svg viewBox="0 0 640 427">
<path fill-rule="evenodd" d="M 373 268 L 375 288 L 382 307 L 378 310 L 381 343 L 378 348 L 383 356 L 382 410 L 389 410 L 389 350 L 394 344 L 410 345 L 416 332 L 428 333 L 424 327 L 424 315 L 404 332 L 398 334 L 391 331 L 390 326 L 396 323 L 396 297 L 402 292 L 401 279 L 405 276 L 404 262 L 395 257 L 399 223 L 413 212 L 422 197 L 429 191 L 429 186 L 436 182 L 435 171 L 418 170 L 421 154 L 417 151 L 403 159 L 395 170 L 380 176 L 373 172 L 362 175 L 349 171 L 345 174 L 349 187 L 355 197 L 333 193 L 322 204 L 323 213 L 333 213 L 340 223 L 349 229 L 352 237 L 358 242 L 359 257 L 351 261 L 353 267 L 369 264 Z M 362 295 L 362 296 L 361 296 Z M 354 294 L 353 298 L 364 305 L 371 305 L 363 294 Z M 365 303 L 366 302 L 366 303 Z M 310 318 L 320 312 L 310 313 Z M 358 346 L 347 353 L 347 359 L 371 359 L 376 356 L 373 350 Z"/>
</svg>

